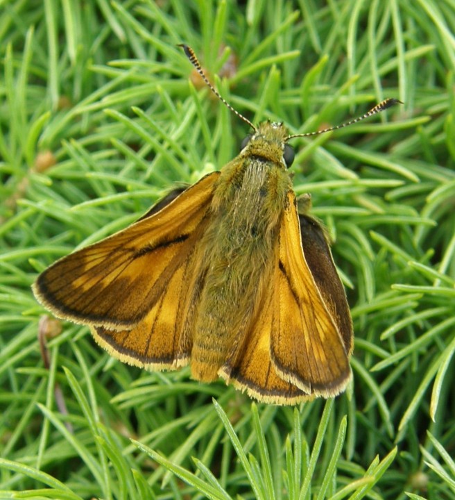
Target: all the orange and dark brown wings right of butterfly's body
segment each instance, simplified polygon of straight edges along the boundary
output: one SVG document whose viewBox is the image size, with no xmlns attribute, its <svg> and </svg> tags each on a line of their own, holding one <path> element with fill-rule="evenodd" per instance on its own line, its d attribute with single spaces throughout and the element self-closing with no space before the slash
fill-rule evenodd
<svg viewBox="0 0 455 500">
<path fill-rule="evenodd" d="M 350 311 L 323 228 L 298 216 L 293 193 L 288 201 L 260 306 L 219 372 L 275 404 L 333 396 L 351 374 Z"/>
</svg>

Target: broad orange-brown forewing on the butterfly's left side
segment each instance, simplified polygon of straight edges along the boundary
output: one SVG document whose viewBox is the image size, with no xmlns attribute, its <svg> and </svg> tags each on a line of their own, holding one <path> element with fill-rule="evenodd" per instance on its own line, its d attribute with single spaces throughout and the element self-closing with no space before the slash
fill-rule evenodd
<svg viewBox="0 0 455 500">
<path fill-rule="evenodd" d="M 110 238 L 58 260 L 33 292 L 56 316 L 108 330 L 132 330 L 194 251 L 207 224 L 218 172 Z"/>
</svg>

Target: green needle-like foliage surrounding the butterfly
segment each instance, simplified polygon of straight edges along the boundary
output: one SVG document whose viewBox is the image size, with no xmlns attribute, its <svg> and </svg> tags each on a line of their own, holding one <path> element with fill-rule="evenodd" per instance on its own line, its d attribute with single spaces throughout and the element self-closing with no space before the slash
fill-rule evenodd
<svg viewBox="0 0 455 500">
<path fill-rule="evenodd" d="M 453 2 L 0 12 L 0 497 L 452 499 Z M 256 406 L 187 369 L 117 363 L 72 324 L 42 360 L 37 272 L 221 167 L 249 132 L 188 84 L 180 42 L 239 112 L 293 133 L 404 101 L 294 142 L 295 191 L 335 240 L 352 306 L 354 384 L 334 401 Z"/>
</svg>

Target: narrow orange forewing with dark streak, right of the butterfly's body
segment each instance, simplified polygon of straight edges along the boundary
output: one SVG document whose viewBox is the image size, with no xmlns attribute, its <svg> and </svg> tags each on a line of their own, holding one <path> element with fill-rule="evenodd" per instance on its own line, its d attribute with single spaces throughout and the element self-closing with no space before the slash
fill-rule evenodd
<svg viewBox="0 0 455 500">
<path fill-rule="evenodd" d="M 341 307 L 339 299 L 338 304 L 332 301 L 326 278 L 314 277 L 318 258 L 325 262 L 320 264 L 322 272 L 331 269 L 327 265 L 327 259 L 332 260 L 332 256 L 327 255 L 327 242 L 324 246 L 318 240 L 322 229 L 315 231 L 314 227 L 304 224 L 301 238 L 297 204 L 292 192 L 288 194 L 288 201 L 280 227 L 280 272 L 275 283 L 279 290 L 277 307 L 280 314 L 279 328 L 274 328 L 271 333 L 271 357 L 277 373 L 284 380 L 309 394 L 331 397 L 339 394 L 351 377 L 349 309 L 347 303 Z M 304 238 L 308 240 L 304 241 Z M 309 251 L 316 241 L 319 242 L 317 250 Z M 323 255 L 318 256 L 315 252 Z M 339 281 L 335 269 L 329 278 Z M 336 291 L 339 292 L 339 288 L 343 290 L 341 282 Z M 345 301 L 344 290 L 343 297 Z M 336 315 L 341 313 L 349 319 L 337 318 Z"/>
</svg>

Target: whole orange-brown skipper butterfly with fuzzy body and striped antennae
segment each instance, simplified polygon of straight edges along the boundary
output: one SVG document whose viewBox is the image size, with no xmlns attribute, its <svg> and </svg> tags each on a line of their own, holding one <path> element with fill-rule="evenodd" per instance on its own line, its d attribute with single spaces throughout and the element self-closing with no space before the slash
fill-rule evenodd
<svg viewBox="0 0 455 500">
<path fill-rule="evenodd" d="M 255 127 L 182 47 L 252 127 L 239 156 L 173 190 L 123 231 L 58 260 L 38 276 L 35 297 L 55 316 L 89 326 L 125 363 L 191 365 L 194 379 L 221 377 L 265 403 L 333 397 L 352 376 L 352 320 L 326 231 L 298 210 L 288 141 L 300 135 L 281 123 Z"/>
</svg>

